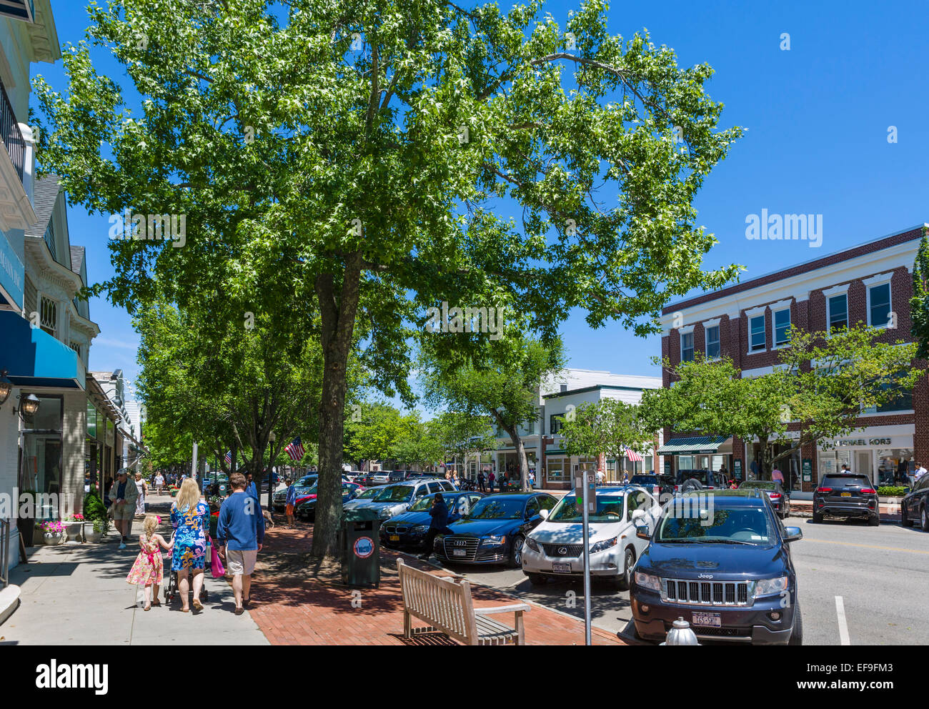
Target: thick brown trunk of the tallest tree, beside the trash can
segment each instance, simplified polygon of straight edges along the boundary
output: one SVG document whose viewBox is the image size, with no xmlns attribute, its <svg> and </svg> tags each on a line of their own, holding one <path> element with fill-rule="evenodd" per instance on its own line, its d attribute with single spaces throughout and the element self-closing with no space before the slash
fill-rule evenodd
<svg viewBox="0 0 929 709">
<path fill-rule="evenodd" d="M 313 523 L 313 555 L 318 557 L 336 557 L 339 554 L 346 370 L 358 312 L 360 271 L 361 257 L 356 252 L 348 259 L 338 300 L 332 274 L 321 274 L 315 283 L 320 302 L 323 361 L 319 497 Z"/>
</svg>

